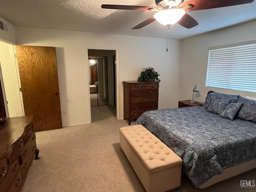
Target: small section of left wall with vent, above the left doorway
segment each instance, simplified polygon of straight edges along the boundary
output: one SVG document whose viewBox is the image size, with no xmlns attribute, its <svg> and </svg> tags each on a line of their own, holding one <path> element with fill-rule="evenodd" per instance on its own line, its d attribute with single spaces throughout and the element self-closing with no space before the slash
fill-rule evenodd
<svg viewBox="0 0 256 192">
<path fill-rule="evenodd" d="M 4 30 L 0 29 L 0 40 L 9 42 L 11 44 L 16 43 L 14 27 L 12 24 L 0 17 L 0 21 L 4 24 Z"/>
</svg>

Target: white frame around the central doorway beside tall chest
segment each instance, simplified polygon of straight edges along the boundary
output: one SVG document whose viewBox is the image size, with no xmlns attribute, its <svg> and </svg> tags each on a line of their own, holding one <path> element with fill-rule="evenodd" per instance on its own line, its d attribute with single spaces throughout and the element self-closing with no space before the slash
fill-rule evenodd
<svg viewBox="0 0 256 192">
<path fill-rule="evenodd" d="M 86 48 L 86 58 L 88 60 L 88 50 L 89 49 L 96 49 L 96 50 L 114 50 L 116 52 L 115 56 L 116 56 L 116 64 L 115 64 L 115 69 L 116 70 L 116 82 L 115 82 L 115 87 L 116 87 L 116 119 L 119 120 L 120 119 L 120 114 L 119 114 L 119 111 L 120 111 L 120 108 L 119 108 L 119 96 L 120 96 L 120 93 L 119 93 L 119 49 L 118 48 L 102 48 L 102 47 L 88 47 Z M 87 64 L 87 63 L 86 63 Z M 87 69 L 87 84 L 89 85 L 89 69 Z M 89 120 L 90 120 L 90 124 L 92 123 L 92 114 L 91 114 L 91 104 L 90 104 L 90 87 L 87 86 L 87 92 L 88 92 L 88 114 L 89 114 Z"/>
</svg>

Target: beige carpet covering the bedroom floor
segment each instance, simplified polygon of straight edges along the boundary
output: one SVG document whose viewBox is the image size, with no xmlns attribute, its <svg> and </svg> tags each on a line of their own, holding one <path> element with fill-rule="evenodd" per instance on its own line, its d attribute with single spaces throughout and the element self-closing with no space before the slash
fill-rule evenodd
<svg viewBox="0 0 256 192">
<path fill-rule="evenodd" d="M 39 160 L 34 160 L 22 192 L 144 192 L 119 146 L 116 120 L 110 106 L 92 107 L 92 124 L 36 132 Z M 134 124 L 134 121 L 132 122 Z M 256 169 L 204 190 L 182 174 L 175 192 L 255 192 L 240 188 L 240 180 L 256 180 Z"/>
</svg>

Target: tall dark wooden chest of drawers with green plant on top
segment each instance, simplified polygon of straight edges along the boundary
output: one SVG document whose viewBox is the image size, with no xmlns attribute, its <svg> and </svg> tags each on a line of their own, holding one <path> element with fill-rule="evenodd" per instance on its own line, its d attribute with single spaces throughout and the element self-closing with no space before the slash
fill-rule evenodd
<svg viewBox="0 0 256 192">
<path fill-rule="evenodd" d="M 158 109 L 158 82 L 124 81 L 124 119 L 137 119 L 142 113 Z"/>
</svg>

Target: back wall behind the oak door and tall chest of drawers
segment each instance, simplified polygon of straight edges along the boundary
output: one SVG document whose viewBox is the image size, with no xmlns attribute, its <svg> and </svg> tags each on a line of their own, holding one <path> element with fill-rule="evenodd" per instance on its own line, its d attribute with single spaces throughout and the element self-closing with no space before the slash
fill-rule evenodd
<svg viewBox="0 0 256 192">
<path fill-rule="evenodd" d="M 62 125 L 90 122 L 88 49 L 116 50 L 118 118 L 123 118 L 122 81 L 137 80 L 143 68 L 160 74 L 159 109 L 177 106 L 180 40 L 15 27 L 17 44 L 56 47 Z M 63 113 L 62 113 L 63 114 Z"/>
</svg>

